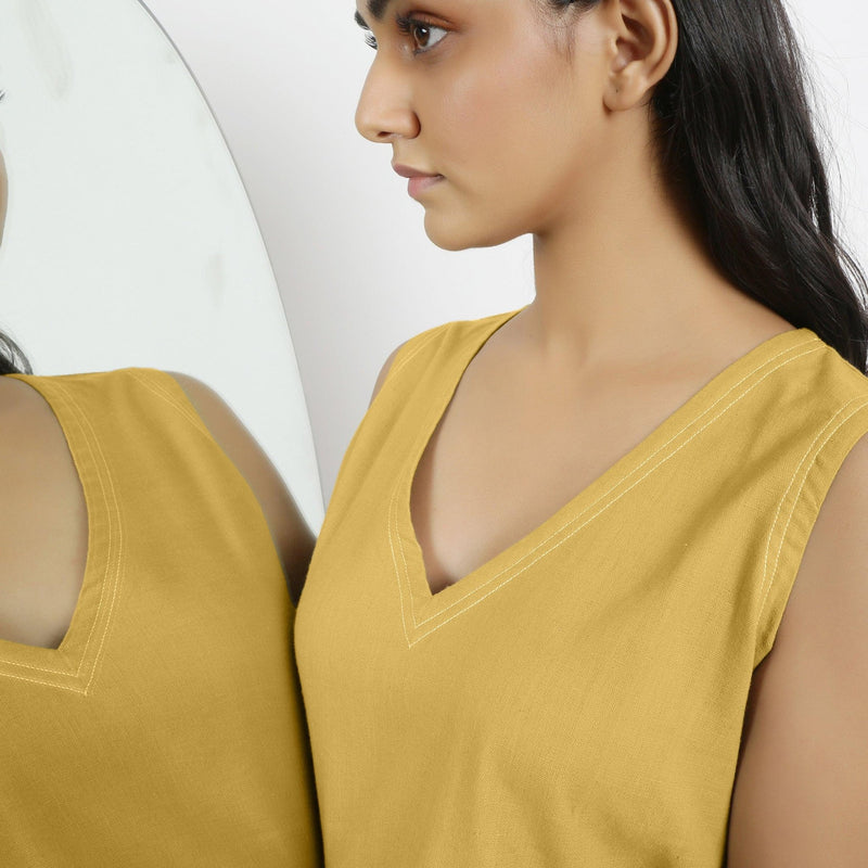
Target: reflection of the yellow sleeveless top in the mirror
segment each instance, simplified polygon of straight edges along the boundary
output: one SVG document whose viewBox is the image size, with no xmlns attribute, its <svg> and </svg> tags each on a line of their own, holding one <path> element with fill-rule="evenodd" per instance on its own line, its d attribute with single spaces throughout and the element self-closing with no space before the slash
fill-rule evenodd
<svg viewBox="0 0 868 868">
<path fill-rule="evenodd" d="M 0 864 L 315 866 L 294 611 L 252 490 L 168 374 L 20 376 L 88 512 L 56 650 L 0 641 Z"/>
</svg>

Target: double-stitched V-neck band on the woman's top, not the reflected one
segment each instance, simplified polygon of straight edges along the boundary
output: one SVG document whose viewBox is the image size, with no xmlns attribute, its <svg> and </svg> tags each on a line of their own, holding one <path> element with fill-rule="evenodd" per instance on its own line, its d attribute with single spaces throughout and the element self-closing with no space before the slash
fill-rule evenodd
<svg viewBox="0 0 868 868">
<path fill-rule="evenodd" d="M 388 508 L 388 537 L 408 646 L 477 605 L 578 533 L 624 494 L 672 458 L 693 437 L 780 367 L 825 345 L 810 329 L 790 329 L 766 339 L 729 363 L 685 400 L 629 451 L 532 531 L 465 576 L 433 592 L 412 524 L 410 495 L 422 456 L 470 363 L 495 332 L 514 316 L 493 317 L 475 333 L 442 378 L 432 412 L 398 472 Z"/>
</svg>

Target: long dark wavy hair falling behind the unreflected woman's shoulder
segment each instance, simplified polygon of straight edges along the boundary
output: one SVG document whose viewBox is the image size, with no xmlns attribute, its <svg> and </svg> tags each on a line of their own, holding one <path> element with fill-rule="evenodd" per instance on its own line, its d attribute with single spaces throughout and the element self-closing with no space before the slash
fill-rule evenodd
<svg viewBox="0 0 868 868">
<path fill-rule="evenodd" d="M 579 14 L 599 0 L 542 0 Z M 838 238 L 799 41 L 781 0 L 672 0 L 652 98 L 663 168 L 717 267 L 866 371 L 868 285 Z"/>
</svg>

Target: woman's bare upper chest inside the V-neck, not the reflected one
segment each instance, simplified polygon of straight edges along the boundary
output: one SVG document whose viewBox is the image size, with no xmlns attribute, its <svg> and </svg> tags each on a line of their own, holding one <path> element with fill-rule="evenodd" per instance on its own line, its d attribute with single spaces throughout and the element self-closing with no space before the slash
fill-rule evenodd
<svg viewBox="0 0 868 868">
<path fill-rule="evenodd" d="M 687 387 L 515 388 L 467 376 L 422 452 L 410 493 L 432 592 L 520 541 L 615 468 L 684 401 Z"/>
</svg>

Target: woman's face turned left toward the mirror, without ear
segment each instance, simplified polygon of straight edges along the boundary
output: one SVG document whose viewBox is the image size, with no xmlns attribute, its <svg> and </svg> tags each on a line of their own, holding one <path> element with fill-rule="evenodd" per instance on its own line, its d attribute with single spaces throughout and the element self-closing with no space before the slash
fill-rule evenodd
<svg viewBox="0 0 868 868">
<path fill-rule="evenodd" d="M 583 190 L 616 146 L 603 104 L 614 42 L 599 7 L 567 24 L 535 0 L 370 4 L 358 0 L 376 56 L 356 126 L 392 145 L 393 165 L 442 176 L 411 182 L 431 240 L 490 246 L 580 219 Z"/>
</svg>

